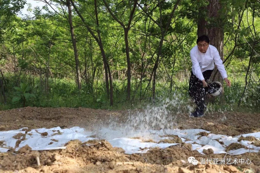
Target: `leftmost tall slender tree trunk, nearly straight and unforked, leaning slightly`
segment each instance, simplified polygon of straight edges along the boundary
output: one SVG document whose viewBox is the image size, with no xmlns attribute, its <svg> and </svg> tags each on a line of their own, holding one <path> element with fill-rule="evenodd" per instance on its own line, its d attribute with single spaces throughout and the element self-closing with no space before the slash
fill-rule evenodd
<svg viewBox="0 0 260 173">
<path fill-rule="evenodd" d="M 73 24 L 72 24 L 72 12 L 71 12 L 71 6 L 70 6 L 69 0 L 67 0 L 67 6 L 68 6 L 68 11 L 69 11 L 70 33 L 71 33 L 71 39 L 72 39 L 72 43 L 73 43 L 75 63 L 76 63 L 77 85 L 78 85 L 78 89 L 80 90 L 81 89 L 81 79 L 80 79 L 79 57 L 78 57 L 78 51 L 77 51 L 77 46 L 76 46 L 76 38 L 74 35 L 74 28 L 73 28 Z"/>
</svg>

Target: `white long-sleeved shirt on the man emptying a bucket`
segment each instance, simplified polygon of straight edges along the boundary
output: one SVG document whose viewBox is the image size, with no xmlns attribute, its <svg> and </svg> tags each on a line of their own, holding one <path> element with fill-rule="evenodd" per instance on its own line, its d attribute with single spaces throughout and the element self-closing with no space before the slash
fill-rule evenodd
<svg viewBox="0 0 260 173">
<path fill-rule="evenodd" d="M 222 75 L 222 78 L 224 79 L 228 77 L 225 66 L 223 65 L 222 59 L 220 59 L 216 47 L 209 45 L 206 53 L 201 53 L 196 45 L 191 49 L 190 56 L 192 61 L 192 73 L 199 78 L 199 80 L 204 80 L 202 75 L 204 71 L 213 70 L 214 63 Z"/>
</svg>

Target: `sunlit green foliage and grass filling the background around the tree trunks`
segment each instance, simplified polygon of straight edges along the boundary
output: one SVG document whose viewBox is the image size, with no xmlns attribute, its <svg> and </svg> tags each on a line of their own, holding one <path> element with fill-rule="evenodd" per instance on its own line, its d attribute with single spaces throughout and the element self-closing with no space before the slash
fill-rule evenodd
<svg viewBox="0 0 260 173">
<path fill-rule="evenodd" d="M 59 2 L 61 1 L 51 1 L 57 3 L 60 9 L 67 9 L 66 5 Z M 127 25 L 133 2 L 125 0 L 107 2 L 115 16 Z M 162 28 L 165 29 L 176 2 L 176 0 L 160 1 L 159 5 L 158 1 L 154 0 L 141 1 L 143 10 L 139 6 L 136 8 L 128 33 L 131 100 L 126 101 L 127 60 L 123 28 L 108 13 L 103 1 L 97 2 L 99 27 L 96 23 L 93 2 L 75 2 L 85 19 L 84 23 L 73 8 L 73 24 L 81 71 L 81 91 L 77 90 L 75 82 L 75 59 L 70 26 L 68 20 L 61 16 L 68 16 L 67 11 L 57 10 L 59 12 L 57 14 L 45 6 L 44 10 L 47 12 L 43 13 L 41 8 L 29 7 L 28 10 L 35 16 L 30 18 L 25 15 L 23 18 L 30 19 L 22 19 L 15 16 L 15 13 L 23 8 L 24 1 L 1 1 L 0 66 L 5 77 L 8 105 L 1 104 L 0 109 L 18 107 L 17 102 L 23 99 L 29 106 L 103 109 L 133 108 L 149 102 L 152 95 L 151 74 L 162 35 L 161 28 L 156 23 L 161 23 Z M 223 110 L 228 109 L 227 105 L 235 107 L 237 104 L 245 85 L 251 47 L 255 44 L 255 51 L 260 53 L 260 16 L 257 11 L 260 6 L 256 0 L 221 0 L 220 3 L 222 8 L 219 9 L 219 18 L 208 16 L 209 11 L 206 7 L 209 1 L 185 0 L 178 4 L 168 31 L 165 33 L 157 68 L 155 92 L 158 97 L 174 99 L 177 94 L 184 102 L 189 103 L 187 90 L 192 65 L 189 53 L 196 45 L 198 18 L 205 17 L 207 27 L 224 29 L 224 59 L 229 57 L 224 65 L 232 80 L 232 87 L 225 88 L 226 104 L 221 104 L 217 99 L 217 102 L 211 106 Z M 100 42 L 97 42 L 87 31 L 86 24 L 95 36 L 100 36 L 102 39 L 113 78 L 114 107 L 109 106 Z M 97 30 L 100 34 L 96 32 Z M 235 50 L 231 53 L 235 45 Z M 260 57 L 254 54 L 248 80 L 249 87 L 242 107 L 249 109 L 257 107 L 254 102 L 258 101 L 259 91 L 252 88 L 258 87 L 259 62 Z M 18 91 L 16 94 L 13 92 L 13 86 L 21 81 L 33 87 L 31 92 L 24 92 L 24 86 L 23 89 L 22 86 L 15 88 Z M 30 99 L 34 98 L 33 95 L 36 99 Z M 12 98 L 16 102 L 11 102 Z M 1 99 L 2 97 L 0 97 L 2 103 Z"/>
</svg>

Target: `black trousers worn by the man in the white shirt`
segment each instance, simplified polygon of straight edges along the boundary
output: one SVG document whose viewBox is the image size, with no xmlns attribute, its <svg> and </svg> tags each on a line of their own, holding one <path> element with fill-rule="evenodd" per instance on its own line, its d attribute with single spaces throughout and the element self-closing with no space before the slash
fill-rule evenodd
<svg viewBox="0 0 260 173">
<path fill-rule="evenodd" d="M 213 70 L 206 70 L 203 72 L 203 77 L 205 81 L 209 80 Z M 205 108 L 205 91 L 203 89 L 202 81 L 199 80 L 191 71 L 191 77 L 189 82 L 189 94 L 193 101 L 196 103 L 196 110 L 204 112 Z"/>
</svg>

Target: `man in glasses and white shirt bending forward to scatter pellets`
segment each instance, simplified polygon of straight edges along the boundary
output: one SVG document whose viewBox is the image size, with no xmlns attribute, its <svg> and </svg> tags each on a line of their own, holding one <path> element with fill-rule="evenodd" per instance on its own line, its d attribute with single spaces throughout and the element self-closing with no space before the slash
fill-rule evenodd
<svg viewBox="0 0 260 173">
<path fill-rule="evenodd" d="M 189 82 L 189 94 L 197 105 L 196 111 L 191 113 L 191 117 L 201 117 L 204 115 L 204 87 L 207 87 L 207 80 L 210 78 L 216 64 L 218 71 L 222 75 L 226 84 L 230 87 L 231 83 L 220 59 L 216 47 L 209 44 L 210 40 L 206 35 L 200 36 L 197 39 L 197 45 L 190 51 L 192 61 L 192 71 Z"/>
</svg>

